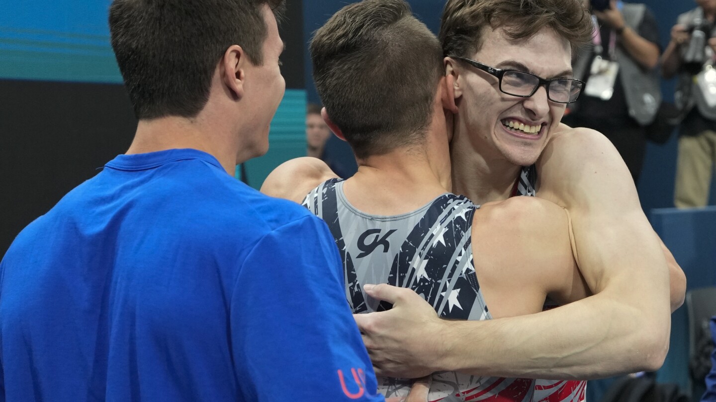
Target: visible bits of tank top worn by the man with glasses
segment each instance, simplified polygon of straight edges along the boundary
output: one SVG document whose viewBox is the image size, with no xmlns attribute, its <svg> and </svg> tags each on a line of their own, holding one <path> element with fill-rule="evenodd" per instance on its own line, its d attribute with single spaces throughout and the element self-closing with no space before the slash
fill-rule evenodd
<svg viewBox="0 0 716 402">
<path fill-rule="evenodd" d="M 511 197 L 524 195 L 535 197 L 537 185 L 537 168 L 535 165 L 524 166 L 517 178 Z M 545 309 L 555 308 L 556 305 L 546 305 Z M 567 402 L 584 401 L 586 398 L 586 381 L 559 381 L 536 380 L 534 401 L 541 402 Z"/>
</svg>

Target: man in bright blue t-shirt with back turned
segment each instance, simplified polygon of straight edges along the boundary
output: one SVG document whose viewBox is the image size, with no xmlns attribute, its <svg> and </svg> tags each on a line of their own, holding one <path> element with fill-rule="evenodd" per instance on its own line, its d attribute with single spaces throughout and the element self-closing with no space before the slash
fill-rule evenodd
<svg viewBox="0 0 716 402">
<path fill-rule="evenodd" d="M 137 132 L 0 263 L 0 401 L 382 401 L 324 222 L 231 177 L 284 94 L 281 8 L 112 3 Z"/>
</svg>

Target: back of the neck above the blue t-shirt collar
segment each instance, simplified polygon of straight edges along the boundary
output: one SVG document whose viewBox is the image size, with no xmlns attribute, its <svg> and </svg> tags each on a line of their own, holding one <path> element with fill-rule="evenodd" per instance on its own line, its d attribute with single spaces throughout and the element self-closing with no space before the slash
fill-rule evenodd
<svg viewBox="0 0 716 402">
<path fill-rule="evenodd" d="M 226 127 L 211 129 L 205 124 L 207 119 L 202 115 L 186 119 L 184 117 L 160 117 L 158 119 L 140 120 L 132 144 L 127 154 L 142 154 L 158 152 L 167 149 L 191 148 L 206 152 L 216 157 L 224 170 L 233 175 L 236 169 L 236 155 L 238 143 L 236 141 L 221 140 L 221 132 L 230 132 Z M 231 137 L 231 136 L 226 136 Z M 227 146 L 228 145 L 228 146 Z"/>
</svg>

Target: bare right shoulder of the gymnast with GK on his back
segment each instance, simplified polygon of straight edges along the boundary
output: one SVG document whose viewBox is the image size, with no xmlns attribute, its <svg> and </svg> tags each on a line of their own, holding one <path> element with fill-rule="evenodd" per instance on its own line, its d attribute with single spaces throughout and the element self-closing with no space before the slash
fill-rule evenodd
<svg viewBox="0 0 716 402">
<path fill-rule="evenodd" d="M 493 304 L 499 316 L 536 313 L 546 297 L 558 303 L 584 297 L 564 208 L 512 197 L 487 203 L 474 216 L 475 270 L 488 303 L 500 302 Z"/>
</svg>

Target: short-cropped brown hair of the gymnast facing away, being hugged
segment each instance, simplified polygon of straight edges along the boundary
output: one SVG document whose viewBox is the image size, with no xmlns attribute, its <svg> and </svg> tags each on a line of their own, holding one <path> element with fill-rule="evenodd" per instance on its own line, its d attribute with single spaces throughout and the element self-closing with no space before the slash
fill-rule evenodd
<svg viewBox="0 0 716 402">
<path fill-rule="evenodd" d="M 321 101 L 357 157 L 425 140 L 442 51 L 405 1 L 344 6 L 316 31 L 310 50 Z"/>
</svg>

